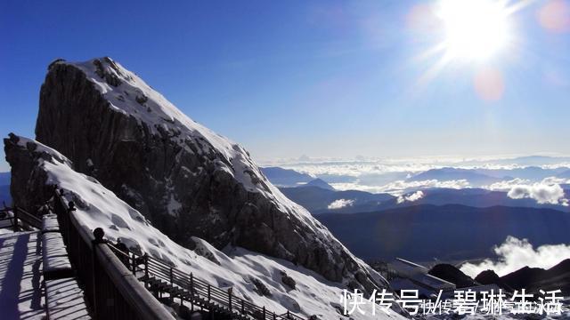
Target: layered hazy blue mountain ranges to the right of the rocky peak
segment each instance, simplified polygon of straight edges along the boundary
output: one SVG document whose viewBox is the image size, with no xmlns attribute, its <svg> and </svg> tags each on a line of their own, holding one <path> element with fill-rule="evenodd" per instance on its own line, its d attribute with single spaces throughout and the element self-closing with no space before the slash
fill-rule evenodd
<svg viewBox="0 0 570 320">
<path fill-rule="evenodd" d="M 312 212 L 362 259 L 405 257 L 418 261 L 457 261 L 490 257 L 493 246 L 508 236 L 526 238 L 536 246 L 570 242 L 566 231 L 570 227 L 570 206 L 563 200 L 556 202 L 541 197 L 553 192 L 558 193 L 560 199 L 567 199 L 570 185 L 556 183 L 567 172 L 566 167 L 444 167 L 409 175 L 403 182 L 468 180 L 471 186 L 490 186 L 516 181 L 520 185 L 511 186 L 509 182 L 506 188 L 529 188 L 529 192 L 538 196 L 518 196 L 512 189 L 471 187 L 411 188 L 399 196 L 335 190 L 320 188 L 325 183 L 330 185 L 321 178 L 318 183 L 296 181 L 294 177 L 299 177 L 299 172 L 291 170 L 281 171 L 281 174 L 291 173 L 289 182 L 297 186 L 282 187 L 281 192 Z M 280 178 L 285 180 L 283 175 Z M 303 179 L 308 177 L 304 175 Z"/>
</svg>

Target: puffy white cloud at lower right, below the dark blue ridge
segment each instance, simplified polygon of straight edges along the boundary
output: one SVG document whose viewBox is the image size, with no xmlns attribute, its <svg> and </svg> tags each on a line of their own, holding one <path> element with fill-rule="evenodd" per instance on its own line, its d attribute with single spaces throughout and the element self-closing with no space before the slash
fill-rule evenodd
<svg viewBox="0 0 570 320">
<path fill-rule="evenodd" d="M 531 268 L 552 268 L 560 261 L 570 258 L 570 245 L 544 244 L 536 249 L 527 239 L 519 240 L 508 236 L 507 240 L 493 248 L 498 259 L 485 259 L 483 262 L 465 263 L 461 271 L 468 276 L 476 277 L 482 271 L 491 269 L 499 276 L 505 276 L 525 266 Z"/>
</svg>

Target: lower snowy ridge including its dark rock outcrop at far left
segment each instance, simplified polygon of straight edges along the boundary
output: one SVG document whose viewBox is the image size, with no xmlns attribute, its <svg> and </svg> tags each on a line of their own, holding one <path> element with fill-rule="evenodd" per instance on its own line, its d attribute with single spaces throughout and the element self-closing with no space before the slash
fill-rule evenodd
<svg viewBox="0 0 570 320">
<path fill-rule="evenodd" d="M 12 187 L 19 190 L 14 201 L 29 211 L 47 203 L 53 196 L 53 185 L 57 185 L 66 200 L 76 204 L 77 210 L 71 214 L 89 233 L 103 228 L 111 242 L 120 239 L 135 252 L 146 252 L 224 290 L 232 288 L 233 294 L 274 312 L 289 309 L 307 318 L 340 317 L 343 284 L 330 282 L 290 261 L 241 247 L 220 251 L 199 237 L 191 237 L 192 249 L 184 248 L 97 180 L 74 171 L 73 164 L 58 151 L 16 135 L 5 139 L 4 146 L 14 174 Z M 371 314 L 372 307 L 376 316 Z M 356 313 L 354 319 L 403 319 L 395 312 L 386 315 L 379 306 L 361 308 L 368 308 L 367 314 Z"/>
</svg>

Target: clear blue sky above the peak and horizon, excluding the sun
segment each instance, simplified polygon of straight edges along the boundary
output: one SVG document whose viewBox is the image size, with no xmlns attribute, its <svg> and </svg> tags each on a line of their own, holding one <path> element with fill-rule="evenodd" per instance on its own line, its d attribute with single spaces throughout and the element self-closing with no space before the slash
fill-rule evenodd
<svg viewBox="0 0 570 320">
<path fill-rule="evenodd" d="M 259 161 L 570 154 L 570 34 L 541 26 L 548 3 L 510 16 L 516 45 L 492 60 L 419 82 L 436 39 L 409 19 L 429 1 L 4 0 L 0 133 L 34 136 L 52 60 L 110 56 Z M 485 68 L 500 99 L 474 90 Z"/>
</svg>

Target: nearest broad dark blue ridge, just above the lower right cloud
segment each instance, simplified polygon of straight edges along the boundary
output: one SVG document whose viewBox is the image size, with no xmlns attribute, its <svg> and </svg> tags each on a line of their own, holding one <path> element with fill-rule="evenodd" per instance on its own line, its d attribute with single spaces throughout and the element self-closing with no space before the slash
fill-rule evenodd
<svg viewBox="0 0 570 320">
<path fill-rule="evenodd" d="M 490 256 L 493 245 L 507 236 L 536 246 L 570 242 L 570 214 L 551 209 L 419 204 L 316 217 L 364 260 L 479 259 Z"/>
</svg>

